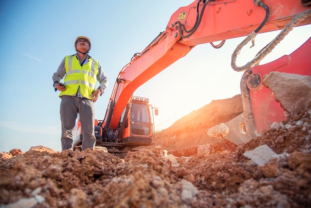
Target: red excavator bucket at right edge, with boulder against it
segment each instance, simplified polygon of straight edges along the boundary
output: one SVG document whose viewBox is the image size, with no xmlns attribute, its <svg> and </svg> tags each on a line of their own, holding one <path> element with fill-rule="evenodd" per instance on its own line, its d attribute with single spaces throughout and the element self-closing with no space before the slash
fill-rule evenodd
<svg viewBox="0 0 311 208">
<path fill-rule="evenodd" d="M 290 55 L 246 70 L 241 79 L 243 113 L 208 130 L 208 135 L 238 145 L 307 108 L 311 95 L 311 38 Z M 292 109 L 294 108 L 294 109 Z"/>
</svg>

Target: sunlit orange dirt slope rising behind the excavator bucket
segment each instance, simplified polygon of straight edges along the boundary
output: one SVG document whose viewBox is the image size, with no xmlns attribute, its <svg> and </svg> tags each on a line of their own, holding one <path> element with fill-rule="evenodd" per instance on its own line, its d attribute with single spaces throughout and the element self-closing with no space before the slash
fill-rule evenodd
<svg viewBox="0 0 311 208">
<path fill-rule="evenodd" d="M 243 112 L 241 96 L 212 101 L 177 120 L 172 126 L 155 135 L 153 142 L 164 147 L 174 156 L 191 156 L 198 147 L 213 143 L 212 152 L 234 150 L 236 145 L 229 141 L 207 135 L 208 129 L 226 123 Z M 224 148 L 225 147 L 225 148 Z"/>
</svg>

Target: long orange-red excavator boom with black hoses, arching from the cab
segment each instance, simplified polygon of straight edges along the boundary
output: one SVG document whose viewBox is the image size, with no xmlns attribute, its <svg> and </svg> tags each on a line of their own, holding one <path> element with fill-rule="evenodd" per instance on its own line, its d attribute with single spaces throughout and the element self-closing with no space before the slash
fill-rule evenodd
<svg viewBox="0 0 311 208">
<path fill-rule="evenodd" d="M 257 33 L 283 29 L 302 12 L 307 13 L 295 26 L 310 24 L 310 9 L 299 0 L 198 0 L 180 7 L 172 14 L 166 30 L 120 71 L 103 121 L 104 128 L 116 129 L 135 90 L 196 45 L 211 43 L 219 48 L 226 39 L 247 35 L 253 39 Z M 222 42 L 214 45 L 215 41 Z M 246 70 L 234 67 L 235 71 Z"/>
</svg>

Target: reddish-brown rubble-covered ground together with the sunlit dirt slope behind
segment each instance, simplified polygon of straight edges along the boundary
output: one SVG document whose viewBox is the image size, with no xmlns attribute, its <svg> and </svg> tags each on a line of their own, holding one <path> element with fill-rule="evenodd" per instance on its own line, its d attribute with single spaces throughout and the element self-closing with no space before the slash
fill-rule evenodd
<svg viewBox="0 0 311 208">
<path fill-rule="evenodd" d="M 311 109 L 238 146 L 207 136 L 241 112 L 238 97 L 213 101 L 124 159 L 99 150 L 2 152 L 0 208 L 311 207 Z M 207 143 L 211 151 L 198 154 Z"/>
</svg>

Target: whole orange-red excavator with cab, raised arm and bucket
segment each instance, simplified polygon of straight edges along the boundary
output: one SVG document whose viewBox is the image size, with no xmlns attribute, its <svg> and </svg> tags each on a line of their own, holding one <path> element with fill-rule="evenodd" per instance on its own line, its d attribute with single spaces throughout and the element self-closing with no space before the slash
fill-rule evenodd
<svg viewBox="0 0 311 208">
<path fill-rule="evenodd" d="M 187 55 L 198 44 L 220 48 L 226 39 L 246 36 L 232 55 L 232 68 L 244 71 L 241 99 L 244 112 L 226 126 L 232 128 L 227 139 L 246 142 L 286 118 L 285 110 L 273 93 L 262 85 L 263 76 L 272 71 L 311 76 L 311 39 L 291 55 L 259 65 L 291 29 L 311 23 L 311 0 L 196 0 L 175 11 L 166 29 L 143 50 L 136 53 L 120 71 L 106 115 L 95 120 L 96 146 L 109 152 L 150 145 L 154 137 L 153 114 L 157 108 L 147 98 L 133 93 L 169 65 Z M 235 64 L 236 56 L 258 33 L 281 30 L 266 48 L 245 66 Z M 214 44 L 216 41 L 219 44 Z M 223 135 L 209 132 L 211 136 Z M 81 143 L 80 124 L 75 131 L 75 146 Z"/>
</svg>

